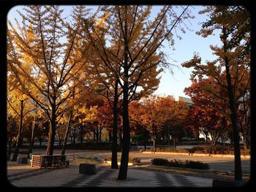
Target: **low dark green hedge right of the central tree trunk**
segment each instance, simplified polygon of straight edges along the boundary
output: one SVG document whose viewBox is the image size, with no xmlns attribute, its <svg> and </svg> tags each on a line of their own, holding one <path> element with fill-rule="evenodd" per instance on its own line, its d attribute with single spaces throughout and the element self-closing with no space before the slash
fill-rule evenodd
<svg viewBox="0 0 256 192">
<path fill-rule="evenodd" d="M 201 161 L 181 161 L 176 159 L 168 161 L 165 158 L 154 158 L 151 161 L 153 165 L 158 166 L 176 166 L 190 169 L 210 169 L 208 164 L 204 164 Z"/>
</svg>

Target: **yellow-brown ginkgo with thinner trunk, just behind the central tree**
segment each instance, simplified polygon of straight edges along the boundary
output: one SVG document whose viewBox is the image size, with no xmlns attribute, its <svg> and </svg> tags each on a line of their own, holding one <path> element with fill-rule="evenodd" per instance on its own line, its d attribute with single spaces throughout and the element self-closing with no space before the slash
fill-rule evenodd
<svg viewBox="0 0 256 192">
<path fill-rule="evenodd" d="M 106 41 L 108 39 L 105 38 L 105 28 L 106 23 L 108 23 L 108 12 L 102 15 L 100 20 L 96 20 L 95 26 L 93 27 L 91 33 L 89 32 L 89 28 L 86 30 L 89 32 L 89 37 L 91 39 L 91 47 L 94 54 L 91 55 L 91 74 L 95 74 L 95 79 L 99 80 L 99 91 L 98 93 L 102 96 L 105 96 L 108 99 L 110 107 L 113 109 L 113 145 L 112 145 L 112 161 L 111 168 L 117 169 L 117 134 L 118 134 L 118 113 L 121 112 L 122 105 L 119 97 L 123 94 L 123 90 L 120 85 L 118 85 L 118 77 L 116 77 L 116 72 L 121 74 L 120 67 L 120 59 L 121 55 L 121 45 L 120 42 L 113 42 L 113 45 L 109 47 L 104 47 Z M 95 21 L 95 19 L 94 19 Z M 121 33 L 121 31 L 119 31 Z M 97 45 L 98 43 L 99 46 Z M 118 44 L 118 45 L 117 45 Z M 103 47 L 102 47 L 103 46 Z M 88 49 L 86 48 L 86 53 L 88 53 Z M 102 57 L 102 52 L 105 53 Z M 98 53 L 95 55 L 95 53 Z M 113 58 L 113 53 L 119 55 L 119 58 Z M 162 57 L 159 55 L 154 55 L 151 58 L 148 58 L 148 63 L 158 62 Z M 105 61 L 110 62 L 110 66 L 106 65 Z M 149 95 L 153 93 L 159 84 L 159 78 L 157 75 L 162 72 L 162 69 L 157 69 L 157 65 L 152 66 L 150 70 L 143 73 L 140 77 L 140 81 L 137 82 L 135 89 L 131 89 L 129 91 L 129 101 L 131 102 L 134 99 L 140 99 L 142 96 Z M 138 73 L 135 73 L 132 79 L 136 79 Z M 136 91 L 136 89 L 139 91 Z M 121 137 L 119 137 L 121 138 Z"/>
</svg>

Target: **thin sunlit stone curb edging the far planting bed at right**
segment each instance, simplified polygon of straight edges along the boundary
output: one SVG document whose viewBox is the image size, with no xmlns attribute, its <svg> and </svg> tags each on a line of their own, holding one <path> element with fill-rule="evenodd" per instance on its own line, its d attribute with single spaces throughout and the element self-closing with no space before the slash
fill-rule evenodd
<svg viewBox="0 0 256 192">
<path fill-rule="evenodd" d="M 141 153 L 153 153 L 149 151 L 143 151 Z M 196 157 L 213 157 L 213 158 L 234 158 L 234 155 L 221 155 L 221 154 L 200 154 L 200 153 L 171 153 L 171 152 L 155 152 L 156 154 L 169 154 L 169 155 L 185 155 Z M 241 155 L 241 158 L 250 159 L 250 155 Z"/>
</svg>

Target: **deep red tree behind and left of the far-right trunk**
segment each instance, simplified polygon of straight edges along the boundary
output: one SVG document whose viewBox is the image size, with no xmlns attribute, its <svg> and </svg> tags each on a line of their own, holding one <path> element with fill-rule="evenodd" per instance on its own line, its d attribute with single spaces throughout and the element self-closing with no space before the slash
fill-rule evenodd
<svg viewBox="0 0 256 192">
<path fill-rule="evenodd" d="M 199 128 L 205 134 L 206 142 L 214 147 L 230 126 L 230 119 L 226 108 L 227 103 L 206 91 L 209 89 L 222 90 L 222 87 L 212 78 L 208 78 L 193 80 L 192 85 L 184 89 L 194 104 L 188 117 L 187 126 Z M 221 93 L 223 90 L 218 92 Z M 209 140 L 208 135 L 211 137 Z"/>
</svg>

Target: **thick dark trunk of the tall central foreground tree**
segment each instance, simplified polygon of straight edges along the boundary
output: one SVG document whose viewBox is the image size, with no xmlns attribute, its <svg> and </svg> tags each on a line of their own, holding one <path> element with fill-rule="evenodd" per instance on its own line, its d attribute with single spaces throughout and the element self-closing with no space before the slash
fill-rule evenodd
<svg viewBox="0 0 256 192">
<path fill-rule="evenodd" d="M 127 15 L 127 7 L 125 6 Z M 127 17 L 124 22 L 124 87 L 123 87 L 123 146 L 121 153 L 121 165 L 118 173 L 118 180 L 127 179 L 127 169 L 129 161 L 129 112 L 128 112 L 128 41 L 127 41 Z"/>
</svg>

